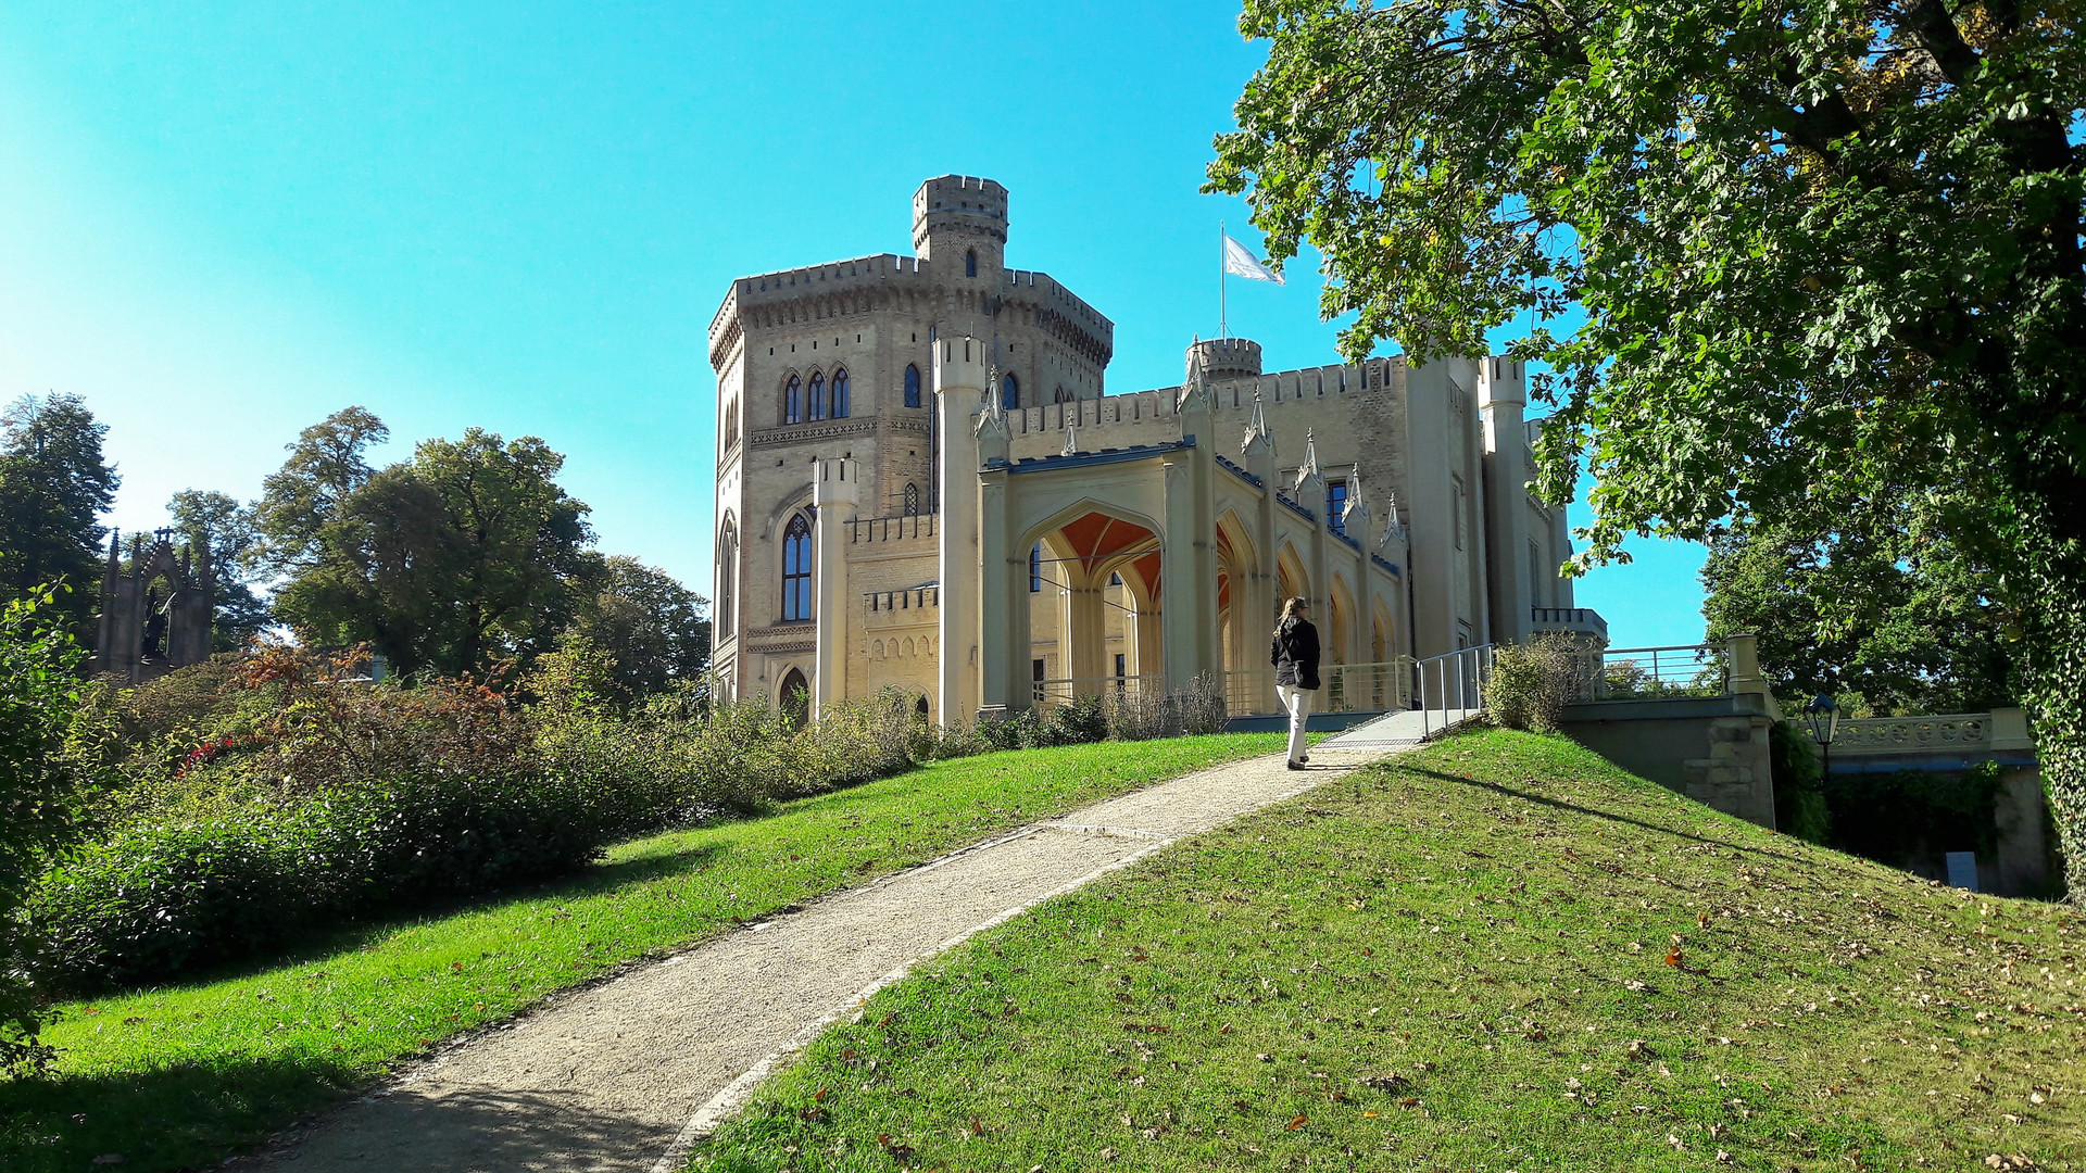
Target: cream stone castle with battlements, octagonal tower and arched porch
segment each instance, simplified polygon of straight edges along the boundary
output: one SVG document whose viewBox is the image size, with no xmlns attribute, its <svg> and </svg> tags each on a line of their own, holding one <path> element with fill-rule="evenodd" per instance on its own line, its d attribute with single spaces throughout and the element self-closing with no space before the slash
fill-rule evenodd
<svg viewBox="0 0 2086 1173">
<path fill-rule="evenodd" d="M 1208 678 L 1277 712 L 1287 595 L 1345 710 L 1406 703 L 1414 657 L 1606 637 L 1525 488 L 1521 363 L 1270 374 L 1220 338 L 1181 386 L 1112 394 L 1114 324 L 1005 265 L 1001 184 L 928 179 L 912 211 L 914 257 L 741 278 L 709 326 L 728 695 L 897 687 L 968 724 Z"/>
</svg>

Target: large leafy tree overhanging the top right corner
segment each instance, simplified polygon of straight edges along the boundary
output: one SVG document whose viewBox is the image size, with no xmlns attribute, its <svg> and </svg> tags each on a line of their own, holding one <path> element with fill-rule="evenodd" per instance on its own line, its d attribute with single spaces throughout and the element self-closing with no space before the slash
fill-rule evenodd
<svg viewBox="0 0 2086 1173">
<path fill-rule="evenodd" d="M 1546 361 L 1579 566 L 1771 522 L 1961 551 L 2019 618 L 2086 902 L 2078 10 L 1961 0 L 1250 0 L 1210 184 L 1327 257 L 1350 355 Z"/>
</svg>

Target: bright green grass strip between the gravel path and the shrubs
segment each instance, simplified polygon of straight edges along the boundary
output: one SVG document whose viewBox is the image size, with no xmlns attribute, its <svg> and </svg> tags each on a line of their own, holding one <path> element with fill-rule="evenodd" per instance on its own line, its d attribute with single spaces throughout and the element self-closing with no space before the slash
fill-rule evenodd
<svg viewBox="0 0 2086 1173">
<path fill-rule="evenodd" d="M 217 981 L 58 1008 L 58 1075 L 0 1083 L 0 1169 L 190 1169 L 542 996 L 1279 735 L 991 753 L 636 839 L 557 885 L 371 925 Z"/>
</svg>

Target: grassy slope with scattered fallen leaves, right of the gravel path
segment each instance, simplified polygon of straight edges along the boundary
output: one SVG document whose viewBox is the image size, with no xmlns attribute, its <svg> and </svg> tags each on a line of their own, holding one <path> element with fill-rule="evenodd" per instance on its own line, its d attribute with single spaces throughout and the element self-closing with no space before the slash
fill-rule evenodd
<svg viewBox="0 0 2086 1173">
<path fill-rule="evenodd" d="M 951 950 L 695 1165 L 2086 1169 L 2082 954 L 1481 733 Z"/>
</svg>

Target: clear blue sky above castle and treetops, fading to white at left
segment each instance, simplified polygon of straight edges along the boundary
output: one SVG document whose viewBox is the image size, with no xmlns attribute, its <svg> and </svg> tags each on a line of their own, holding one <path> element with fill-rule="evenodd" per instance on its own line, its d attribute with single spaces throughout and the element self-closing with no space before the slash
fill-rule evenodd
<svg viewBox="0 0 2086 1173">
<path fill-rule="evenodd" d="M 1216 332 L 1210 136 L 1262 50 L 1231 4 L 15 4 L 0 0 L 0 399 L 111 426 L 115 522 L 242 499 L 361 403 L 396 442 L 536 434 L 601 545 L 709 582 L 705 330 L 741 273 L 909 253 L 949 171 L 1008 263 L 1116 321 L 1110 386 Z M 1314 257 L 1231 284 L 1272 367 L 1333 359 Z M 1700 639 L 1700 549 L 1581 605 Z"/>
</svg>

